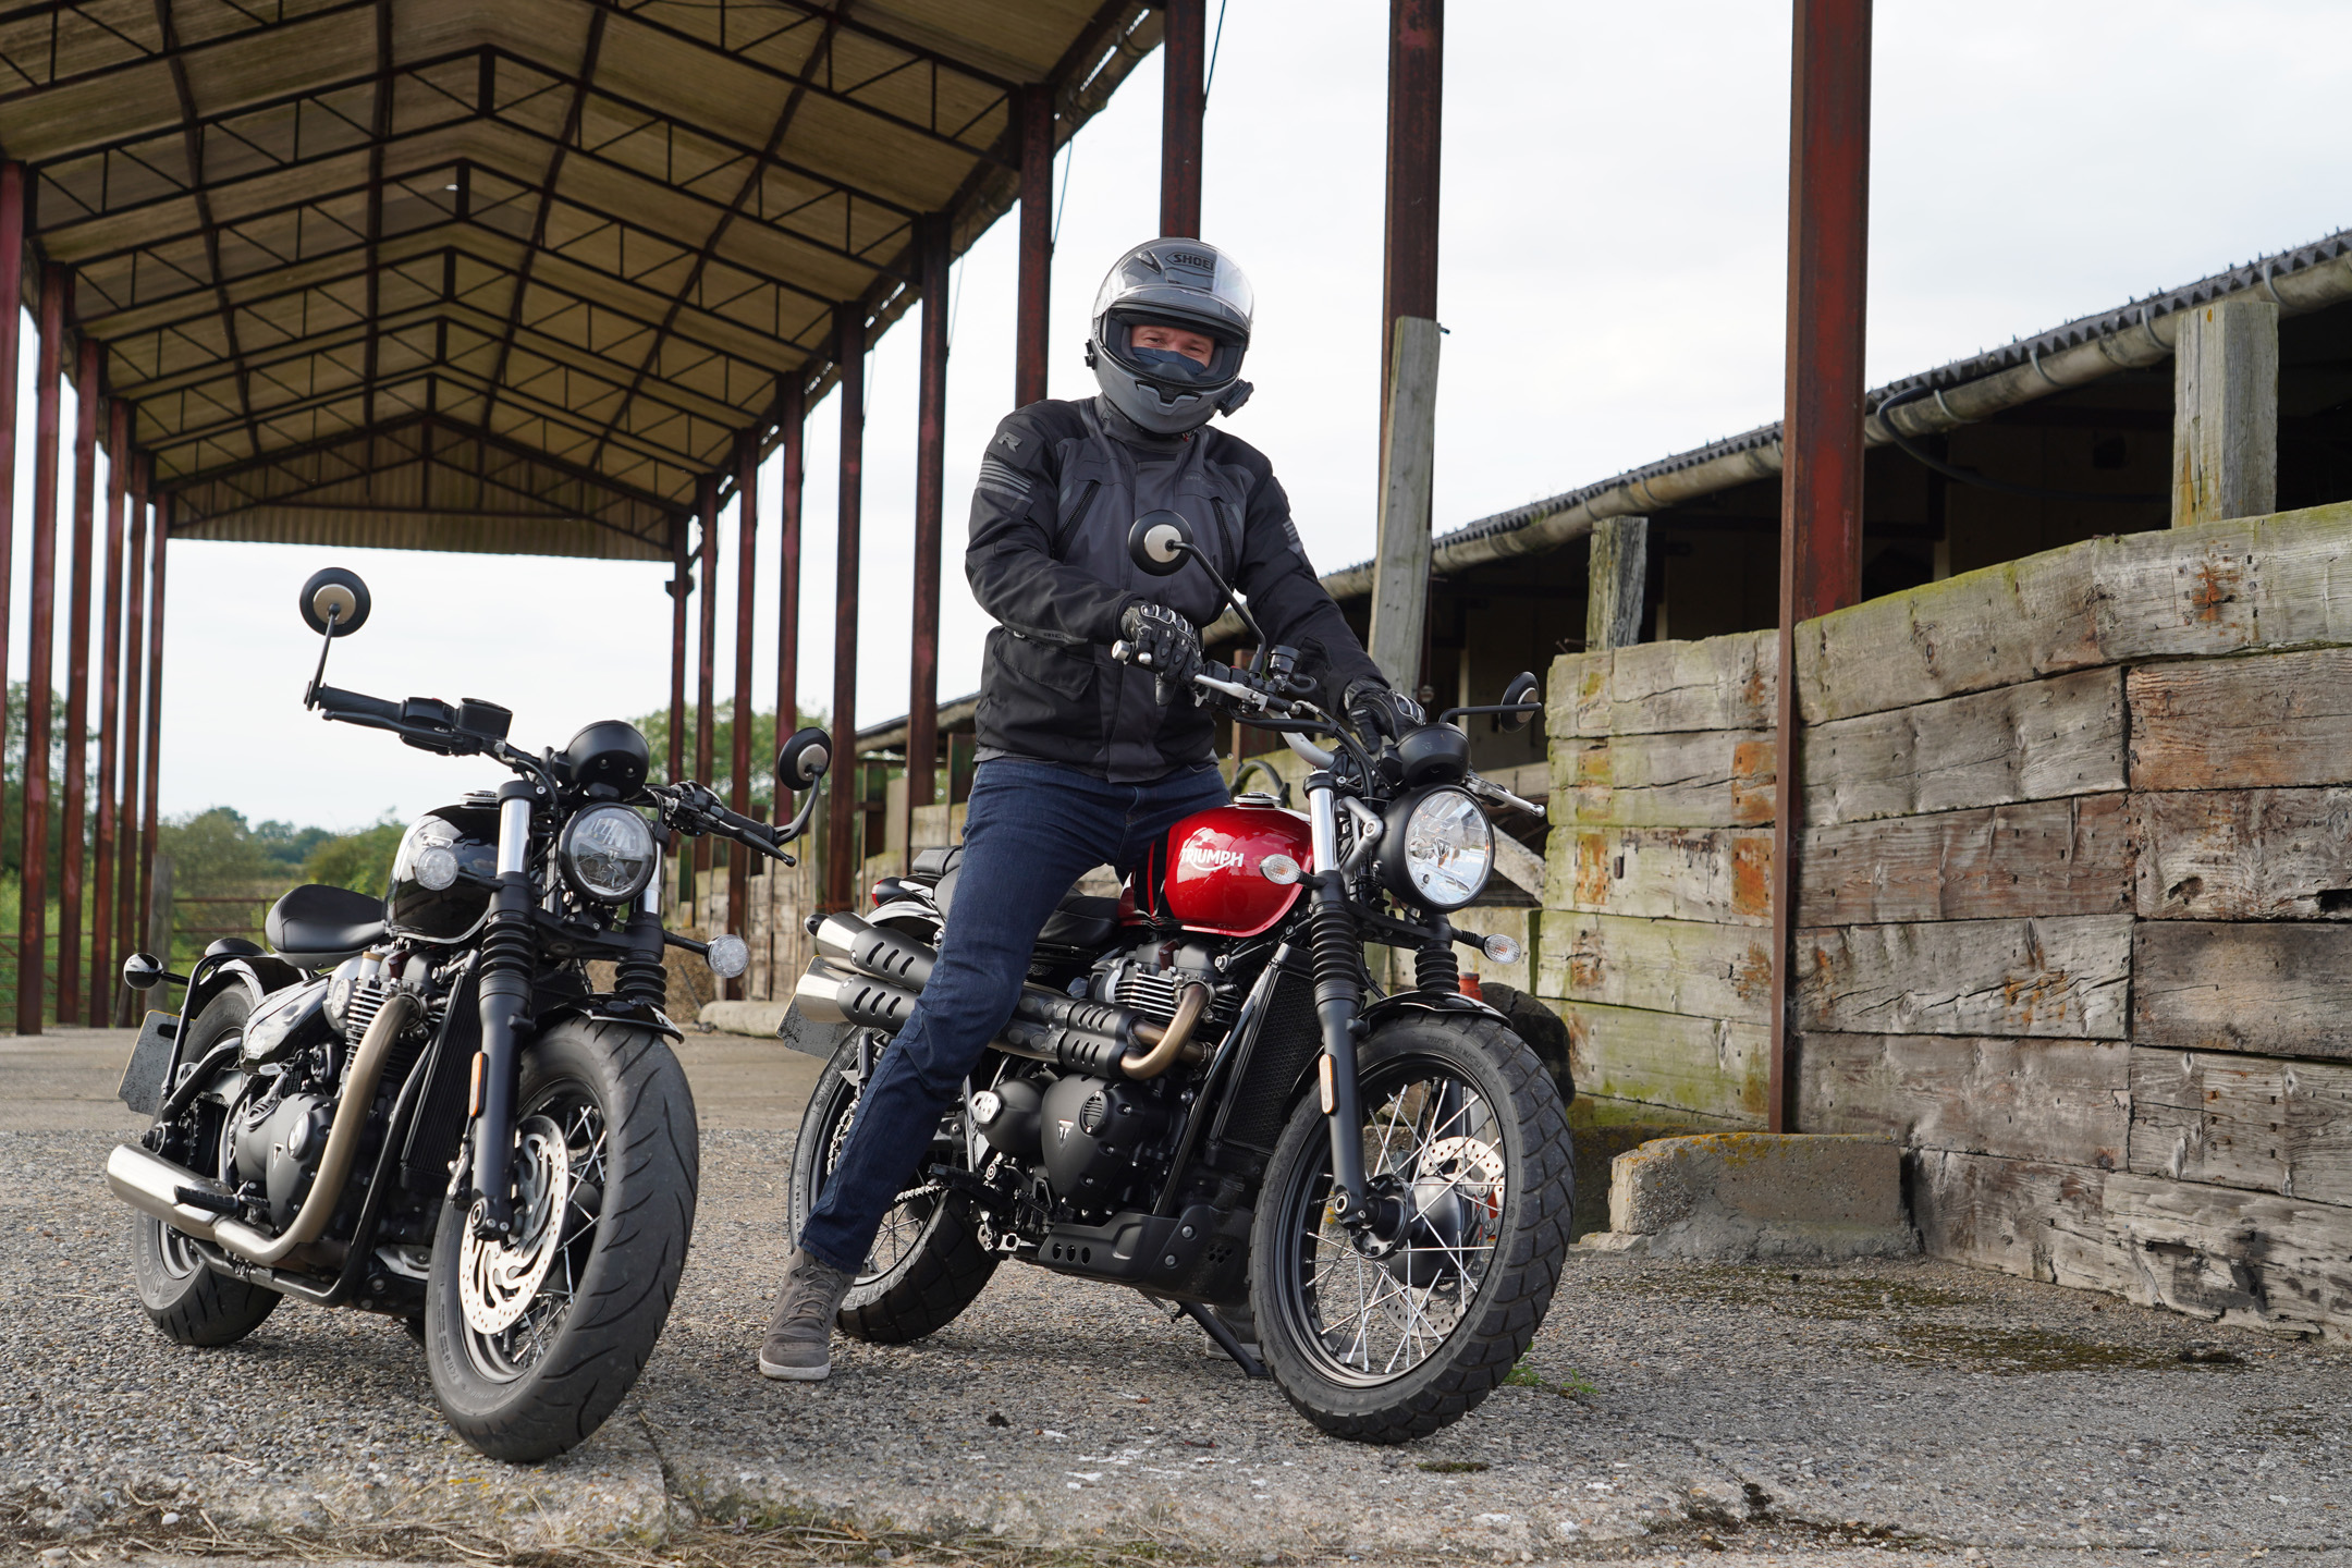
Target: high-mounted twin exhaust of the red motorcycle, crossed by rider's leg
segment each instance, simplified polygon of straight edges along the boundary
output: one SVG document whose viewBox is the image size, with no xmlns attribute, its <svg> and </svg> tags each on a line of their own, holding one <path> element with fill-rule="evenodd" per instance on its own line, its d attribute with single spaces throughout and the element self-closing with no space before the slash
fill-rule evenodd
<svg viewBox="0 0 2352 1568">
<path fill-rule="evenodd" d="M 898 931 L 870 926 L 856 914 L 826 914 L 816 924 L 816 950 L 793 997 L 818 1023 L 851 1023 L 896 1034 L 915 1011 L 938 952 Z M 854 973 L 828 964 L 837 959 Z M 1044 985 L 1023 985 L 1014 1016 L 993 1041 L 1000 1051 L 1056 1063 L 1101 1077 L 1160 1077 L 1192 1044 L 1192 1030 L 1209 1009 L 1209 987 L 1190 985 L 1167 1027 L 1110 1001 L 1089 1001 Z M 1197 1051 L 1195 1051 L 1197 1053 Z"/>
</svg>

